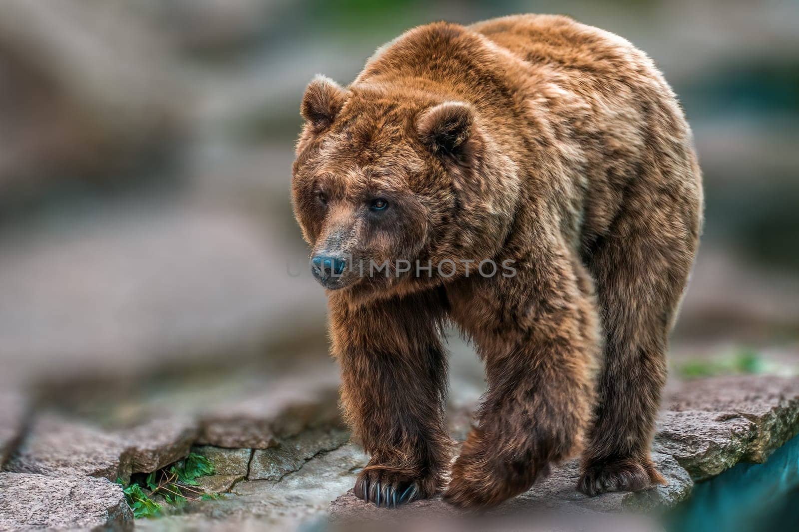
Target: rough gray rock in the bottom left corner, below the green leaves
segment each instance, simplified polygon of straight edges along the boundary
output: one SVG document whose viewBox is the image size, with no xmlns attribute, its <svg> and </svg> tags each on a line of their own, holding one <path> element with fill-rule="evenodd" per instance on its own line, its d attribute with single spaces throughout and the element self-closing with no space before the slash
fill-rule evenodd
<svg viewBox="0 0 799 532">
<path fill-rule="evenodd" d="M 0 530 L 133 530 L 122 487 L 93 477 L 0 473 Z"/>
</svg>

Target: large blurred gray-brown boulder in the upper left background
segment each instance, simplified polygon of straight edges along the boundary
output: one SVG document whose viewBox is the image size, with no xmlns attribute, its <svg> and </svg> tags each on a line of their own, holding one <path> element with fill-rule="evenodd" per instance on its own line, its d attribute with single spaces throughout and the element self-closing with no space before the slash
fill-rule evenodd
<svg viewBox="0 0 799 532">
<path fill-rule="evenodd" d="M 4 93 L 18 112 L 4 111 L 0 126 L 2 200 L 30 195 L 44 178 L 113 179 L 180 140 L 185 93 L 166 74 L 168 47 L 129 10 L 108 7 L 99 14 L 71 0 L 46 9 L 5 2 Z"/>
</svg>

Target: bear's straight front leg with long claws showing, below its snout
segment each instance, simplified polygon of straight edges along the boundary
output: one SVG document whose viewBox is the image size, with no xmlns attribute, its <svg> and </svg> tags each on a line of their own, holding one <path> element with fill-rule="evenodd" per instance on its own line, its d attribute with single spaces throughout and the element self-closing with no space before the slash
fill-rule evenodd
<svg viewBox="0 0 799 532">
<path fill-rule="evenodd" d="M 333 293 L 330 307 L 345 416 L 371 455 L 355 494 L 385 507 L 435 495 L 451 451 L 439 294 L 354 305 Z"/>
</svg>

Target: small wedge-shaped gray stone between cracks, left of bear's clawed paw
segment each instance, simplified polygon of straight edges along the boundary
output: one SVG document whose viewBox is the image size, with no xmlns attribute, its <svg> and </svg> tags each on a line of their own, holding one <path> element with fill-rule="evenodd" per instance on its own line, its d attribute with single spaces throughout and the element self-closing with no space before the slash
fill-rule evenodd
<svg viewBox="0 0 799 532">
<path fill-rule="evenodd" d="M 280 480 L 292 471 L 298 471 L 309 459 L 322 451 L 341 447 L 349 439 L 348 432 L 309 430 L 284 439 L 276 447 L 259 449 L 252 455 L 248 480 Z"/>
</svg>

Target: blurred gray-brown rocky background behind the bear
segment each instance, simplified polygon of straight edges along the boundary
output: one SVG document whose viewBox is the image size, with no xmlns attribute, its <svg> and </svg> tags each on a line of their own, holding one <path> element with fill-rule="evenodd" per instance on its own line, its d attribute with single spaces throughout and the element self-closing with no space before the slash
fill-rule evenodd
<svg viewBox="0 0 799 532">
<path fill-rule="evenodd" d="M 49 426 L 96 439 L 81 424 L 116 435 L 189 416 L 188 432 L 166 423 L 152 471 L 178 442 L 268 449 L 328 420 L 303 410 L 335 404 L 337 378 L 324 294 L 296 275 L 304 85 L 347 84 L 411 26 L 522 12 L 646 50 L 694 128 L 706 231 L 673 375 L 797 372 L 797 2 L 4 0 L 0 466 L 51 471 L 14 466 L 33 456 L 17 443 Z M 451 348 L 452 395 L 468 404 L 482 372 L 455 333 Z M 297 452 L 327 448 L 315 441 Z"/>
</svg>

